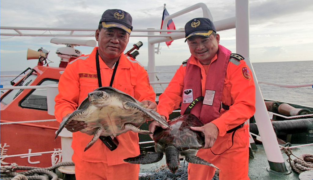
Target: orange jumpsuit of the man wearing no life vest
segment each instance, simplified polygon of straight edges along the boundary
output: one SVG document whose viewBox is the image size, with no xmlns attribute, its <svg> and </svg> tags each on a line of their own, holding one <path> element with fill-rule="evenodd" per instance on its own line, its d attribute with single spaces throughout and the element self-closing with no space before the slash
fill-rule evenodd
<svg viewBox="0 0 313 180">
<path fill-rule="evenodd" d="M 57 121 L 61 122 L 64 116 L 78 108 L 89 92 L 99 88 L 95 63 L 97 49 L 98 47 L 95 47 L 91 54 L 70 62 L 62 74 L 59 81 L 59 94 L 55 98 Z M 113 69 L 107 67 L 100 56 L 99 62 L 102 86 L 109 86 Z M 156 95 L 148 81 L 146 70 L 136 60 L 129 59 L 124 54 L 120 57 L 112 87 L 131 95 L 140 102 L 143 100 L 155 102 Z M 77 180 L 138 179 L 139 165 L 123 161 L 125 158 L 140 154 L 138 133 L 128 131 L 117 136 L 119 145 L 114 151 L 110 151 L 101 140 L 98 140 L 84 152 L 85 146 L 92 137 L 81 132 L 73 133 L 72 159 L 75 163 Z M 100 164 L 96 165 L 97 163 Z M 103 169 L 104 167 L 106 169 Z"/>
</svg>

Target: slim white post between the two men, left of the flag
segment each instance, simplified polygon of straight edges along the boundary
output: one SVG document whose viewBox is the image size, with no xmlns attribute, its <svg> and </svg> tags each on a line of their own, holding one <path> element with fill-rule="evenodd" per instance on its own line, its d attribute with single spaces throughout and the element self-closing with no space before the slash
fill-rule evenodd
<svg viewBox="0 0 313 180">
<path fill-rule="evenodd" d="M 154 29 L 154 28 L 148 28 L 148 29 Z M 154 35 L 154 32 L 148 32 L 148 35 Z M 155 63 L 155 48 L 154 43 L 149 42 L 151 37 L 148 37 L 148 72 L 156 72 L 156 63 Z M 155 73 L 149 73 L 149 80 L 150 82 L 155 82 Z M 156 85 L 151 85 L 154 89 L 154 92 L 156 92 Z"/>
</svg>

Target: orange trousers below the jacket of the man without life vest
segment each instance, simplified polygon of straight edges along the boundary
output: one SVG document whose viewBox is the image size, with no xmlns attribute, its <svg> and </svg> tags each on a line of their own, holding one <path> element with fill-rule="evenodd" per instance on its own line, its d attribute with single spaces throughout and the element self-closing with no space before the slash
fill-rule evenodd
<svg viewBox="0 0 313 180">
<path fill-rule="evenodd" d="M 118 164 L 108 166 L 106 163 L 91 163 L 81 160 L 75 153 L 76 180 L 138 180 L 139 164 Z"/>
</svg>

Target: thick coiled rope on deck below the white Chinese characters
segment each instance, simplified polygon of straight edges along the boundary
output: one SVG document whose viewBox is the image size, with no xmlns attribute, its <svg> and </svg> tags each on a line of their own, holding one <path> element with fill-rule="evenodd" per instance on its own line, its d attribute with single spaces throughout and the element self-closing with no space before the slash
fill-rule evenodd
<svg viewBox="0 0 313 180">
<path fill-rule="evenodd" d="M 52 170 L 60 166 L 74 166 L 72 162 L 57 163 L 49 168 L 38 168 L 29 166 L 18 166 L 12 163 L 8 166 L 0 168 L 0 177 L 3 180 L 62 180 Z M 16 172 L 17 170 L 27 170 L 23 172 Z M 52 178 L 52 179 L 51 179 Z"/>
</svg>

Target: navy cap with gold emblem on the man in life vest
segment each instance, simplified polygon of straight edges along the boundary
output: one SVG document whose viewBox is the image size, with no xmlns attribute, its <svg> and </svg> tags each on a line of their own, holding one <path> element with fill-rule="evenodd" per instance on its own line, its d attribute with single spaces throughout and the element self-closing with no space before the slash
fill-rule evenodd
<svg viewBox="0 0 313 180">
<path fill-rule="evenodd" d="M 210 19 L 204 17 L 194 18 L 185 25 L 185 42 L 192 36 L 209 37 L 213 31 L 216 32 L 215 26 Z"/>
</svg>

